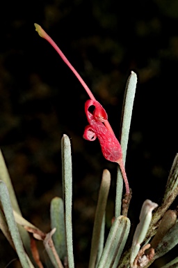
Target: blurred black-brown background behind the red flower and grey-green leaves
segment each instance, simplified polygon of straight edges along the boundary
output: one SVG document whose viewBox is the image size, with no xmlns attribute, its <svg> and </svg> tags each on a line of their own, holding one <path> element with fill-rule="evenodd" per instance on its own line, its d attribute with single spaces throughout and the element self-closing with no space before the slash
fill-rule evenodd
<svg viewBox="0 0 178 268">
<path fill-rule="evenodd" d="M 131 70 L 138 74 L 126 163 L 134 229 L 145 199 L 160 204 L 177 153 L 178 3 L 3 1 L 0 20 L 0 147 L 19 206 L 26 219 L 49 232 L 50 201 L 61 196 L 60 138 L 69 135 L 74 259 L 76 267 L 87 267 L 102 170 L 108 168 L 112 174 L 109 227 L 117 165 L 104 159 L 98 141 L 83 140 L 88 96 L 33 24 L 54 38 L 79 71 L 108 112 L 118 137 L 127 77 Z M 3 234 L 0 239 L 0 267 L 6 267 L 17 256 Z M 45 267 L 44 251 L 42 261 Z M 14 260 L 8 267 L 20 266 Z"/>
</svg>

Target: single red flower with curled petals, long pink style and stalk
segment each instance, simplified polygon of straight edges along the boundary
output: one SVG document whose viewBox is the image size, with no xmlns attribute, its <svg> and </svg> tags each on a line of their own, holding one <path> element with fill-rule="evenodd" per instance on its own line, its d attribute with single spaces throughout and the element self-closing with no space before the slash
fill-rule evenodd
<svg viewBox="0 0 178 268">
<path fill-rule="evenodd" d="M 46 39 L 54 47 L 54 49 L 56 50 L 56 52 L 58 52 L 58 54 L 63 59 L 65 64 L 67 64 L 67 66 L 69 66 L 74 75 L 76 75 L 79 82 L 81 82 L 81 84 L 83 85 L 84 89 L 86 89 L 86 92 L 90 97 L 90 100 L 86 101 L 85 104 L 85 112 L 89 125 L 86 126 L 83 137 L 86 140 L 90 141 L 93 141 L 98 137 L 104 157 L 108 161 L 116 162 L 120 165 L 120 170 L 122 172 L 122 177 L 124 179 L 126 187 L 126 193 L 129 194 L 130 193 L 129 183 L 127 180 L 127 174 L 124 169 L 124 163 L 122 161 L 122 148 L 120 146 L 119 141 L 115 137 L 113 129 L 111 128 L 108 122 L 108 115 L 106 111 L 104 110 L 102 105 L 95 99 L 92 92 L 88 88 L 87 84 L 83 81 L 79 73 L 76 72 L 75 68 L 72 66 L 72 64 L 70 64 L 70 61 L 67 60 L 63 52 L 56 45 L 56 43 L 54 43 L 54 40 L 52 40 L 51 37 L 42 29 L 42 27 L 40 27 L 40 25 L 36 23 L 35 23 L 35 29 L 36 31 L 38 31 L 38 34 L 42 38 Z M 88 110 L 90 106 L 95 107 L 93 113 L 91 113 Z"/>
</svg>

